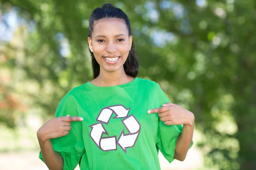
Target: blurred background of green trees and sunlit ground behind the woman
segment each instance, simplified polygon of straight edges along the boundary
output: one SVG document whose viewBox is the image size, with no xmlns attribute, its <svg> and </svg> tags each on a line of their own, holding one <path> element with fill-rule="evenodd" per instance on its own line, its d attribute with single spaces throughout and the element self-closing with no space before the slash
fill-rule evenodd
<svg viewBox="0 0 256 170">
<path fill-rule="evenodd" d="M 0 169 L 47 170 L 36 132 L 92 79 L 90 14 L 128 15 L 140 78 L 195 114 L 186 160 L 163 170 L 256 170 L 254 0 L 0 0 Z M 79 169 L 79 167 L 77 167 Z"/>
</svg>

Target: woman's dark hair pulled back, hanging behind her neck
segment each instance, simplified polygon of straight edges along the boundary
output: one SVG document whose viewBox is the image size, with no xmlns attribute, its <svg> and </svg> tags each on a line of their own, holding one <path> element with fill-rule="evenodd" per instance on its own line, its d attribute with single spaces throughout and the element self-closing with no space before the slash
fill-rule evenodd
<svg viewBox="0 0 256 170">
<path fill-rule="evenodd" d="M 129 36 L 131 36 L 131 24 L 127 15 L 120 8 L 114 7 L 112 4 L 107 3 L 102 8 L 96 8 L 93 10 L 90 21 L 89 21 L 89 35 L 92 39 L 93 32 L 93 24 L 95 21 L 103 19 L 103 18 L 119 18 L 125 21 L 125 24 L 128 28 Z M 90 49 L 89 49 L 90 51 Z M 92 66 L 93 66 L 93 78 L 99 76 L 99 63 L 96 61 L 93 52 L 90 51 L 92 57 Z M 129 51 L 128 57 L 124 63 L 125 74 L 136 77 L 139 70 L 139 61 L 138 61 L 138 53 L 135 49 L 134 42 L 132 41 L 131 50 Z"/>
</svg>

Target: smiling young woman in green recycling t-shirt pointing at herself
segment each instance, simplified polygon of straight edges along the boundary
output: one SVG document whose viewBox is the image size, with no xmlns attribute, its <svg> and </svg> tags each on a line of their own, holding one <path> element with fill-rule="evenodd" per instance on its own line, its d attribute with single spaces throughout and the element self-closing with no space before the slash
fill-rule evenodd
<svg viewBox="0 0 256 170">
<path fill-rule="evenodd" d="M 38 130 L 39 158 L 50 170 L 160 170 L 158 150 L 169 162 L 183 161 L 194 115 L 137 77 L 127 15 L 111 4 L 96 8 L 88 44 L 94 79 L 69 91 L 56 118 Z"/>
</svg>

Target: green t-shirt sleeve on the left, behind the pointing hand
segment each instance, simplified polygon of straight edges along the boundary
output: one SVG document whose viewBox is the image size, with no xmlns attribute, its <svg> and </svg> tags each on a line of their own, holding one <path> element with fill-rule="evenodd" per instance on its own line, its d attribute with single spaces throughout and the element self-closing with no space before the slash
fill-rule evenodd
<svg viewBox="0 0 256 170">
<path fill-rule="evenodd" d="M 55 112 L 55 117 L 79 116 L 77 102 L 73 95 L 66 94 Z M 67 136 L 50 139 L 53 149 L 60 154 L 63 159 L 63 170 L 73 170 L 84 154 L 84 143 L 82 138 L 82 122 L 72 122 L 70 133 Z M 41 151 L 39 158 L 44 161 Z"/>
</svg>

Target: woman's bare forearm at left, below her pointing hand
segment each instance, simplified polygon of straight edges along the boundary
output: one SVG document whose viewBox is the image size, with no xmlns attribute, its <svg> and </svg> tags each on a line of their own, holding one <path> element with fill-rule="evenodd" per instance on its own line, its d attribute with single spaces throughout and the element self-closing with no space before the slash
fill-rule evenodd
<svg viewBox="0 0 256 170">
<path fill-rule="evenodd" d="M 49 170 L 63 170 L 63 159 L 56 151 L 53 150 L 51 141 L 44 141 L 38 138 L 38 142 L 44 162 Z"/>
</svg>

